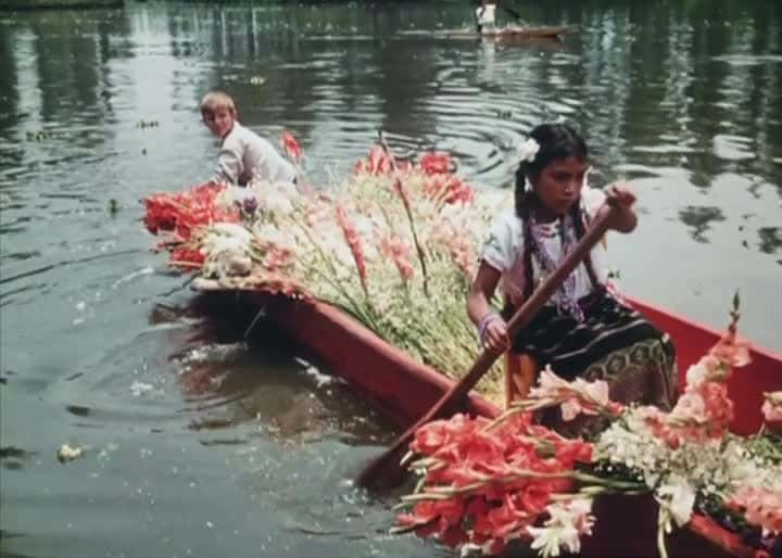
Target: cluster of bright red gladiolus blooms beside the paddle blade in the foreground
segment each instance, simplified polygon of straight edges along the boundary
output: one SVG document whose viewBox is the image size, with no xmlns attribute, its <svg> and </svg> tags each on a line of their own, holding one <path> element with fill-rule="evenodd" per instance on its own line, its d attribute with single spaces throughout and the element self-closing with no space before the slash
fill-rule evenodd
<svg viewBox="0 0 782 558">
<path fill-rule="evenodd" d="M 422 491 L 409 498 L 432 499 L 418 502 L 399 523 L 419 536 L 488 553 L 528 537 L 552 496 L 572 491 L 576 464 L 592 459 L 591 444 L 562 437 L 520 411 L 499 423 L 465 415 L 430 422 L 416 431 L 411 449 L 426 458 L 416 461 L 426 475 Z"/>
</svg>

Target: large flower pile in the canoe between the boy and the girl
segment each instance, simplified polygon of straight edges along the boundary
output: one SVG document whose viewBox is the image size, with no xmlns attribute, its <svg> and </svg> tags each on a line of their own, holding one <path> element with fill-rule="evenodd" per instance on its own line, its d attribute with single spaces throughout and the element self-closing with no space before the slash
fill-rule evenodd
<svg viewBox="0 0 782 558">
<path fill-rule="evenodd" d="M 290 134 L 281 144 L 299 161 Z M 399 161 L 376 145 L 351 176 L 316 188 L 251 181 L 148 198 L 147 224 L 197 288 L 266 289 L 335 304 L 414 358 L 462 373 L 477 350 L 465 297 L 492 215 L 447 153 Z M 497 366 L 479 389 L 501 401 Z"/>
</svg>

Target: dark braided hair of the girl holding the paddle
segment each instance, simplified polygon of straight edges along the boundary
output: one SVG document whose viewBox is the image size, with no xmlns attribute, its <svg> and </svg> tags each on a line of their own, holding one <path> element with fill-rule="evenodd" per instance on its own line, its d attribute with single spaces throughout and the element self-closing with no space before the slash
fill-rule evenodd
<svg viewBox="0 0 782 558">
<path fill-rule="evenodd" d="M 525 180 L 534 183 L 541 172 L 553 161 L 576 157 L 586 161 L 586 143 L 579 134 L 567 124 L 541 124 L 530 131 L 529 137 L 538 142 L 540 151 L 531 163 L 522 161 L 516 170 L 516 214 L 525 219 L 528 216 L 534 192 L 525 191 Z"/>
</svg>

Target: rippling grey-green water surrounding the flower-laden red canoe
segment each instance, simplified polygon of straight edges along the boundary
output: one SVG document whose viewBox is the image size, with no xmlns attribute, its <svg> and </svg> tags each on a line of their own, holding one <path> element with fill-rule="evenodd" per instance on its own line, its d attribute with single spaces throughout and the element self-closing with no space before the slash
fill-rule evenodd
<svg viewBox="0 0 782 558">
<path fill-rule="evenodd" d="M 391 433 L 348 386 L 204 320 L 149 252 L 138 199 L 211 174 L 215 86 L 325 185 L 383 129 L 507 188 L 525 134 L 572 122 L 595 181 L 639 193 L 639 230 L 609 242 L 625 289 L 719 327 L 740 288 L 744 332 L 782 348 L 777 3 L 520 10 L 578 34 L 434 38 L 471 21 L 436 2 L 0 13 L 3 555 L 445 554 L 387 536 L 391 502 L 350 484 Z M 85 457 L 56 462 L 65 442 Z"/>
</svg>

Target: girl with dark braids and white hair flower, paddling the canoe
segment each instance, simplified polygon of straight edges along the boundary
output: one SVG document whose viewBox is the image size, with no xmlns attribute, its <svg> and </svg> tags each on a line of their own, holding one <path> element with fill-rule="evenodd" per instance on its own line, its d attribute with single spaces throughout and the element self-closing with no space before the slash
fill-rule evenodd
<svg viewBox="0 0 782 558">
<path fill-rule="evenodd" d="M 558 376 L 608 382 L 615 401 L 670 408 L 676 398 L 676 356 L 672 343 L 638 312 L 605 288 L 603 248 L 565 280 L 515 339 L 505 319 L 551 274 L 583 236 L 606 194 L 584 186 L 586 145 L 569 126 L 534 128 L 519 150 L 515 208 L 499 216 L 483 245 L 481 262 L 467 299 L 467 310 L 481 342 L 492 351 L 533 356 Z M 609 228 L 631 232 L 636 216 L 634 195 L 614 186 L 608 200 L 618 207 Z M 507 301 L 503 315 L 489 301 L 497 283 Z"/>
</svg>

